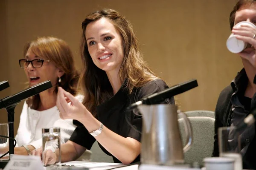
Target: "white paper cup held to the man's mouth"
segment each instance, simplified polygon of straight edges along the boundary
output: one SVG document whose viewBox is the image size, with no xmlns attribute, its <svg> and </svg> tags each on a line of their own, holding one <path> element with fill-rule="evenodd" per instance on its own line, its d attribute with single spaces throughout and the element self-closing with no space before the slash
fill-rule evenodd
<svg viewBox="0 0 256 170">
<path fill-rule="evenodd" d="M 253 23 L 242 21 L 240 23 L 237 23 L 234 27 L 240 27 L 241 25 L 247 25 L 251 26 L 253 28 L 256 28 L 256 26 Z M 234 34 L 230 34 L 230 36 L 227 39 L 227 49 L 232 53 L 240 53 L 247 47 L 247 42 L 244 42 L 242 40 L 237 40 Z"/>
</svg>

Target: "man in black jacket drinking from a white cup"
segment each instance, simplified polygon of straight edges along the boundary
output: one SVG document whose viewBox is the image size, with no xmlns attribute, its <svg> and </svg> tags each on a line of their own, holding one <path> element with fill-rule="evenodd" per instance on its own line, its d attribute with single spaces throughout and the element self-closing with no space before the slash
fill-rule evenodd
<svg viewBox="0 0 256 170">
<path fill-rule="evenodd" d="M 227 48 L 231 52 L 239 54 L 244 68 L 231 84 L 221 91 L 218 98 L 215 109 L 215 142 L 212 156 L 219 156 L 218 128 L 239 125 L 256 107 L 256 84 L 253 83 L 256 77 L 255 24 L 256 0 L 239 0 L 230 13 L 232 34 L 227 40 Z M 233 39 L 234 37 L 235 39 Z M 233 43 L 230 39 L 238 43 Z M 241 44 L 239 45 L 239 43 Z M 238 48 L 241 48 L 241 51 Z M 244 169 L 256 169 L 255 127 L 253 124 L 240 133 L 240 153 Z"/>
</svg>

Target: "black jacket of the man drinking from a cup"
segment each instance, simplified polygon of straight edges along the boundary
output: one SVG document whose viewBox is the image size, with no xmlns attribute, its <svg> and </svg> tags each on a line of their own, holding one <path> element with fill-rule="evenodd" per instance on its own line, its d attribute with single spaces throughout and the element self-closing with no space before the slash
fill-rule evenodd
<svg viewBox="0 0 256 170">
<path fill-rule="evenodd" d="M 212 156 L 219 156 L 218 128 L 237 125 L 255 106 L 254 98 L 252 100 L 244 96 L 247 81 L 248 78 L 244 69 L 242 69 L 231 82 L 231 85 L 221 91 L 215 108 L 215 135 Z M 254 160 L 256 153 L 256 137 L 253 135 L 251 140 L 247 142 L 248 140 L 246 139 L 251 136 L 250 133 L 255 133 L 255 125 L 253 125 L 253 128 L 248 127 L 241 135 L 243 169 L 256 169 L 256 161 Z"/>
</svg>

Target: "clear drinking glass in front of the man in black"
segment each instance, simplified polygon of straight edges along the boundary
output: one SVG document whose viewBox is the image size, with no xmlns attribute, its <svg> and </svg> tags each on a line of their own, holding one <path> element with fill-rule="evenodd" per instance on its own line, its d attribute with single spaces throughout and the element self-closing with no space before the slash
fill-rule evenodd
<svg viewBox="0 0 256 170">
<path fill-rule="evenodd" d="M 233 158 L 234 170 L 242 170 L 242 157 L 240 134 L 236 127 L 219 127 L 218 128 L 218 146 L 220 157 Z"/>
</svg>

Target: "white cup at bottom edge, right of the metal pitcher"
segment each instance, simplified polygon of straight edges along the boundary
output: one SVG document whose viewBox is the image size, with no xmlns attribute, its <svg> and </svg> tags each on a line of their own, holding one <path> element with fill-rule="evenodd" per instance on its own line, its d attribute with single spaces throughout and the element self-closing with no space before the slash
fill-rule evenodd
<svg viewBox="0 0 256 170">
<path fill-rule="evenodd" d="M 204 158 L 206 170 L 234 170 L 234 159 L 223 157 Z"/>
</svg>

